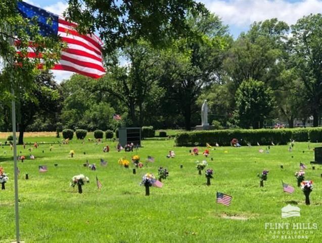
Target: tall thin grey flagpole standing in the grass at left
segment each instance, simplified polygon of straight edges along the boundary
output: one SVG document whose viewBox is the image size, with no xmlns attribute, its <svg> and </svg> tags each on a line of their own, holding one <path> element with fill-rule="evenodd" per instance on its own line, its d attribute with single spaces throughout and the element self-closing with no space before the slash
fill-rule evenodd
<svg viewBox="0 0 322 243">
<path fill-rule="evenodd" d="M 13 133 L 13 147 L 14 147 L 14 178 L 15 178 L 15 215 L 16 215 L 16 242 L 20 242 L 19 234 L 19 205 L 18 205 L 18 173 L 17 173 L 17 137 L 16 137 L 16 103 L 15 91 L 12 88 L 12 133 Z"/>
</svg>

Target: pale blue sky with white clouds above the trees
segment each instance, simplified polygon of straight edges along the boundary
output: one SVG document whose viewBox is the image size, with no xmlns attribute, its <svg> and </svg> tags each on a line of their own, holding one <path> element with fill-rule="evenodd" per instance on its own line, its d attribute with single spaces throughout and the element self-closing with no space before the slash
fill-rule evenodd
<svg viewBox="0 0 322 243">
<path fill-rule="evenodd" d="M 62 14 L 67 7 L 65 0 L 25 0 L 29 4 L 41 7 L 55 14 Z M 236 38 L 247 31 L 254 21 L 278 18 L 288 24 L 297 19 L 322 13 L 322 0 L 199 0 L 207 9 L 218 15 L 229 32 Z M 53 70 L 58 82 L 69 78 L 72 73 Z"/>
</svg>

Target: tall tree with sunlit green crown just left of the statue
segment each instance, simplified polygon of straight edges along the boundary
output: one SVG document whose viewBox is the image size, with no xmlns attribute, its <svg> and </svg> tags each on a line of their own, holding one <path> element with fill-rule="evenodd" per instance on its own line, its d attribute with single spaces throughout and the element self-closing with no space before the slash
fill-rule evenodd
<svg viewBox="0 0 322 243">
<path fill-rule="evenodd" d="M 187 22 L 195 37 L 180 39 L 163 52 L 159 85 L 165 90 L 164 106 L 176 107 L 190 130 L 194 111 L 199 110 L 196 101 L 202 89 L 219 82 L 223 53 L 231 37 L 227 26 L 215 15 L 191 16 Z M 196 114 L 198 120 L 200 116 Z"/>
</svg>

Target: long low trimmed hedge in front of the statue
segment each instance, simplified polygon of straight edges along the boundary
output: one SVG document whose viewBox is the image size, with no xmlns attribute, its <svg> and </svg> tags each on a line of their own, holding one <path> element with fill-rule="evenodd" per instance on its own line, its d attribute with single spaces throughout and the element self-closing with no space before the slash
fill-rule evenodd
<svg viewBox="0 0 322 243">
<path fill-rule="evenodd" d="M 258 130 L 214 130 L 178 133 L 175 137 L 176 146 L 205 146 L 206 143 L 230 146 L 233 138 L 241 145 L 287 144 L 291 139 L 297 142 L 322 142 L 322 128 L 308 129 L 258 129 Z"/>
</svg>

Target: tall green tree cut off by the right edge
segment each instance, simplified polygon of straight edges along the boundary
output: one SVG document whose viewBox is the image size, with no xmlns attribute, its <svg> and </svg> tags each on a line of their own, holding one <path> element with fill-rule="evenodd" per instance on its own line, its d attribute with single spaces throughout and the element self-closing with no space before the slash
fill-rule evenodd
<svg viewBox="0 0 322 243">
<path fill-rule="evenodd" d="M 318 126 L 322 98 L 322 15 L 310 14 L 292 25 L 292 61 L 305 87 L 305 95 Z"/>
</svg>

